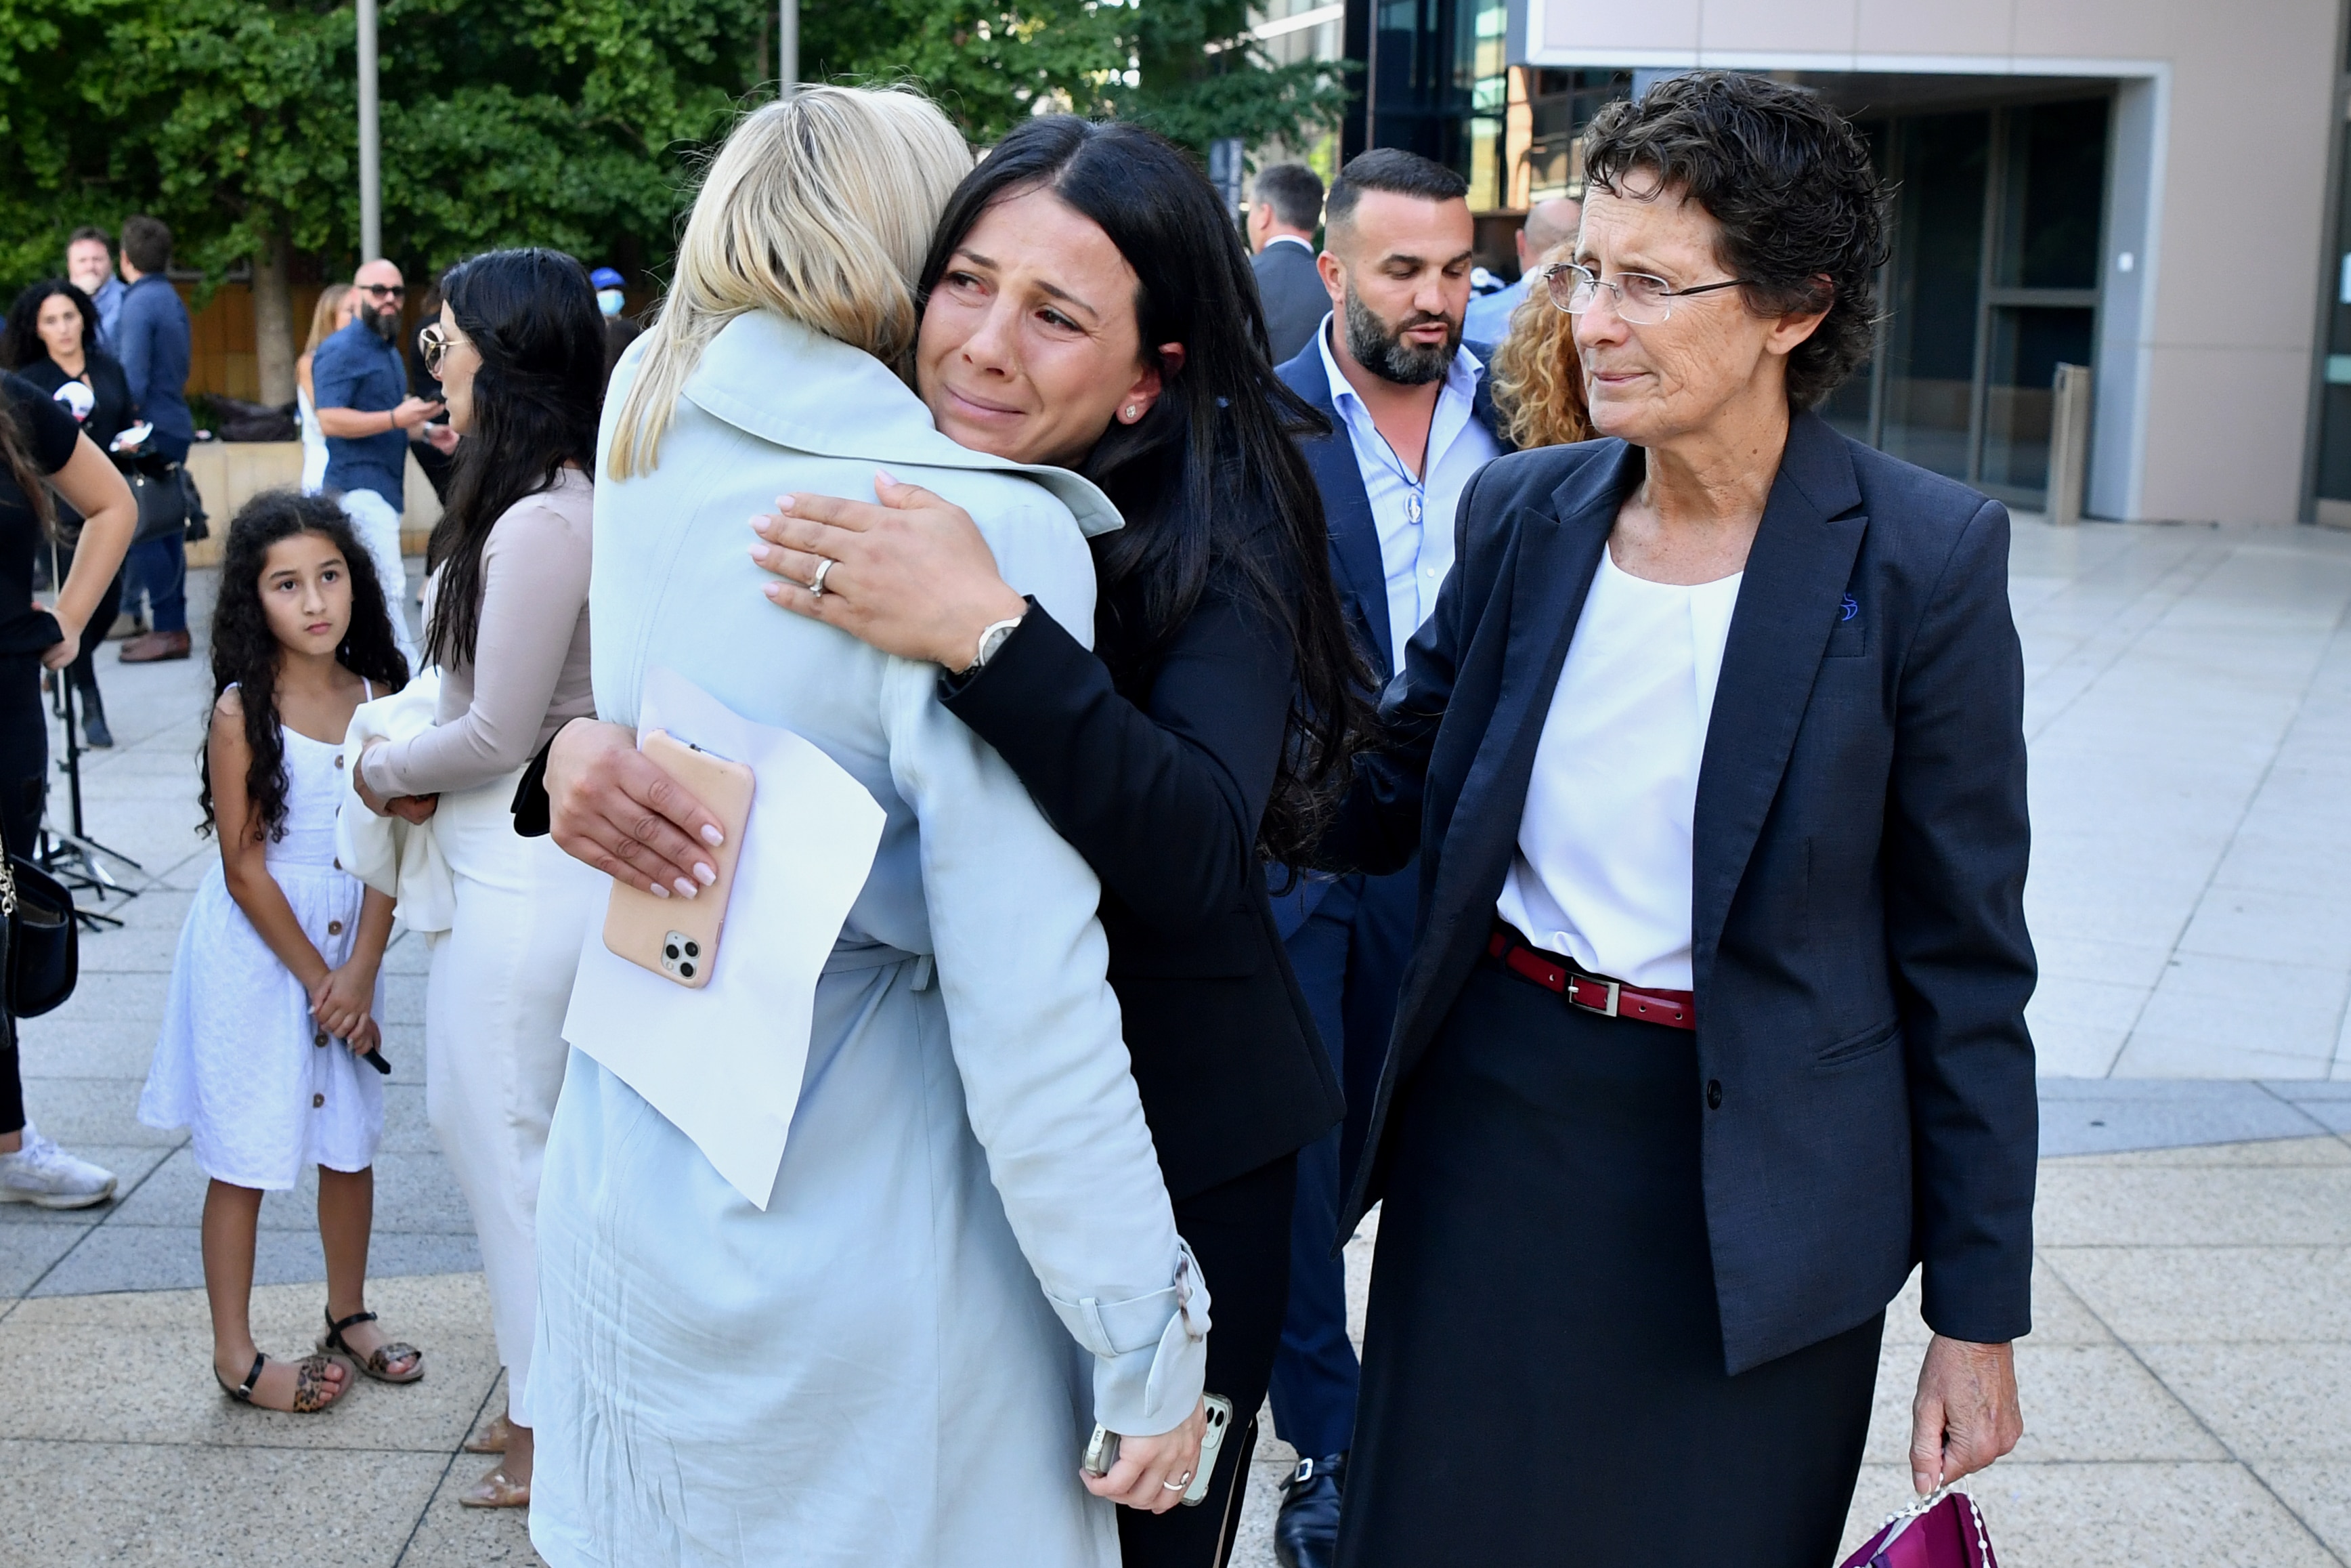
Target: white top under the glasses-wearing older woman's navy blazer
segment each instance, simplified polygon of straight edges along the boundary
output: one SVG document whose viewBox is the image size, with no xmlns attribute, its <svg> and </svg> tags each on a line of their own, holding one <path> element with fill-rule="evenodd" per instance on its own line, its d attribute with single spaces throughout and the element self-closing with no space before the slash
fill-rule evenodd
<svg viewBox="0 0 2351 1568">
<path fill-rule="evenodd" d="M 1650 583 L 1601 550 L 1495 900 L 1587 973 L 1690 990 L 1697 769 L 1737 602 L 1740 576 Z"/>
</svg>

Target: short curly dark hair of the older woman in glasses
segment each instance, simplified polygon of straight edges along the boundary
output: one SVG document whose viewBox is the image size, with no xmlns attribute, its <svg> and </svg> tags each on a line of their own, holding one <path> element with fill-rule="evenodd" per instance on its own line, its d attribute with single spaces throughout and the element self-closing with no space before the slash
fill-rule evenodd
<svg viewBox="0 0 2351 1568">
<path fill-rule="evenodd" d="M 1886 183 L 1869 146 L 1803 87 L 1693 71 L 1620 99 L 1585 129 L 1585 181 L 1627 195 L 1648 174 L 1723 226 L 1721 261 L 1763 315 L 1829 315 L 1787 360 L 1787 400 L 1810 409 L 1869 360 L 1886 266 Z M 1632 195 L 1641 195 L 1639 190 Z"/>
</svg>

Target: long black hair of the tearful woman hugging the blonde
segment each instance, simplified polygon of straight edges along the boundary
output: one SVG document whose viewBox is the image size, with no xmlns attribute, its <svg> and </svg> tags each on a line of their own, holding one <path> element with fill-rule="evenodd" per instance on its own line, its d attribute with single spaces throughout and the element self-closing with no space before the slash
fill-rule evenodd
<svg viewBox="0 0 2351 1568">
<path fill-rule="evenodd" d="M 1321 494 L 1295 444 L 1326 435 L 1328 423 L 1274 376 L 1255 277 L 1225 202 L 1185 153 L 1133 125 L 1023 120 L 955 188 L 919 299 L 931 299 L 992 202 L 1037 188 L 1100 226 L 1136 270 L 1143 357 L 1166 388 L 1136 423 L 1112 423 L 1079 465 L 1126 517 L 1093 541 L 1096 571 L 1105 588 L 1140 590 L 1143 625 L 1126 630 L 1143 658 L 1192 616 L 1215 574 L 1234 574 L 1277 611 L 1298 686 L 1258 851 L 1300 860 L 1371 691 L 1331 585 Z M 1183 343 L 1183 364 L 1161 362 L 1159 343 Z"/>
</svg>

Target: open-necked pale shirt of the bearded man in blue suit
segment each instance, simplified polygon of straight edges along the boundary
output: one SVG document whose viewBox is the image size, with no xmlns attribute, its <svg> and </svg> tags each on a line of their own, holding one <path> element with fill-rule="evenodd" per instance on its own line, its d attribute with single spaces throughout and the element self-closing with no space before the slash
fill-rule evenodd
<svg viewBox="0 0 2351 1568">
<path fill-rule="evenodd" d="M 1462 489 L 1479 468 L 1502 454 L 1486 425 L 1469 411 L 1476 407 L 1476 383 L 1486 367 L 1467 348 L 1453 355 L 1446 367 L 1444 388 L 1436 393 L 1436 414 L 1429 418 L 1429 449 L 1420 473 L 1396 456 L 1387 437 L 1371 423 L 1371 409 L 1340 371 L 1331 353 L 1333 320 L 1314 329 L 1321 346 L 1324 371 L 1331 376 L 1331 407 L 1338 409 L 1347 440 L 1354 444 L 1354 463 L 1364 475 L 1364 496 L 1371 501 L 1371 522 L 1380 531 L 1380 574 L 1387 578 L 1387 646 L 1394 649 L 1396 668 L 1404 668 L 1404 644 L 1413 639 L 1420 623 L 1436 609 L 1436 590 L 1453 571 L 1453 510 Z"/>
</svg>

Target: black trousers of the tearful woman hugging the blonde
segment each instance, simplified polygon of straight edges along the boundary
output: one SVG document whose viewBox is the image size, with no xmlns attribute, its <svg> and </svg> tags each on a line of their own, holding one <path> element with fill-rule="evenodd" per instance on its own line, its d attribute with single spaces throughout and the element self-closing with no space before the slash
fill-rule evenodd
<svg viewBox="0 0 2351 1568">
<path fill-rule="evenodd" d="M 1281 1314 L 1291 1300 L 1291 1201 L 1298 1157 L 1176 1199 L 1176 1229 L 1208 1279 L 1208 1392 L 1232 1401 L 1232 1432 L 1197 1507 L 1119 1509 L 1126 1568 L 1213 1568 L 1232 1549 L 1255 1448 L 1258 1406 L 1274 1378 Z"/>
</svg>

